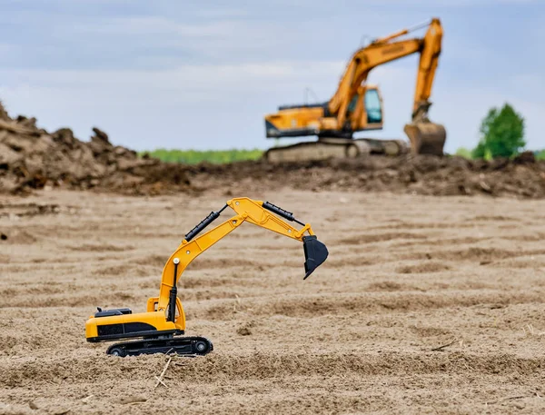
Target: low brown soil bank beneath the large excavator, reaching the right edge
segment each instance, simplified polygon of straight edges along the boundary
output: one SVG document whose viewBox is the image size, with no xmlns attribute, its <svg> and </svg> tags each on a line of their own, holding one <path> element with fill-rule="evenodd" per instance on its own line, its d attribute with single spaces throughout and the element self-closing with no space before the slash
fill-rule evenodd
<svg viewBox="0 0 545 415">
<path fill-rule="evenodd" d="M 471 161 L 457 156 L 372 155 L 307 163 L 243 162 L 188 167 L 192 184 L 257 190 L 290 186 L 312 191 L 359 190 L 427 195 L 545 197 L 545 162 L 532 153 Z M 255 189 L 253 189 L 255 188 Z"/>
</svg>

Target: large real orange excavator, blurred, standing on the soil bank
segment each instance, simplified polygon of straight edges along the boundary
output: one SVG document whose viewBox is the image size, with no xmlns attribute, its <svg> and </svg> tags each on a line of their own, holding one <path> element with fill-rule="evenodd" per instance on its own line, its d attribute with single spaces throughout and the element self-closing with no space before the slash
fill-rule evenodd
<svg viewBox="0 0 545 415">
<path fill-rule="evenodd" d="M 414 30 L 428 27 L 421 38 L 399 40 Z M 267 138 L 318 136 L 317 142 L 273 147 L 264 153 L 270 162 L 355 157 L 361 153 L 399 154 L 408 151 L 401 140 L 353 139 L 356 132 L 381 130 L 382 98 L 377 85 L 367 84 L 373 68 L 410 54 L 420 54 L 411 124 L 406 124 L 412 153 L 443 154 L 446 131 L 431 123 L 431 85 L 441 54 L 442 26 L 430 23 L 375 39 L 357 50 L 348 63 L 332 98 L 322 104 L 283 105 L 278 113 L 265 115 Z"/>
</svg>

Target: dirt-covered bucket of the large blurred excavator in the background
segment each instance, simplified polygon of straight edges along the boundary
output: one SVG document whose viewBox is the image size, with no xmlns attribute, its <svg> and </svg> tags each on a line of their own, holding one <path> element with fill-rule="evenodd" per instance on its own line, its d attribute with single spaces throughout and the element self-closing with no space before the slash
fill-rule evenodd
<svg viewBox="0 0 545 415">
<path fill-rule="evenodd" d="M 441 124 L 429 122 L 405 124 L 403 131 L 411 141 L 412 153 L 443 155 L 447 132 Z"/>
</svg>

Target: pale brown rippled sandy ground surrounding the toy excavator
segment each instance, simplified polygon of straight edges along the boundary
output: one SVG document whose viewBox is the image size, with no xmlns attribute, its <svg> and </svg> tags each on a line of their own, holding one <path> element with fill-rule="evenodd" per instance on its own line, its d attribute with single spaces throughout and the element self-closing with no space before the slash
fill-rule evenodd
<svg viewBox="0 0 545 415">
<path fill-rule="evenodd" d="M 311 222 L 330 257 L 303 282 L 301 244 L 250 224 L 205 252 L 180 297 L 215 350 L 156 388 L 165 356 L 106 356 L 84 322 L 144 311 L 229 197 L 2 196 L 0 413 L 545 413 L 545 202 L 243 195 Z"/>
</svg>

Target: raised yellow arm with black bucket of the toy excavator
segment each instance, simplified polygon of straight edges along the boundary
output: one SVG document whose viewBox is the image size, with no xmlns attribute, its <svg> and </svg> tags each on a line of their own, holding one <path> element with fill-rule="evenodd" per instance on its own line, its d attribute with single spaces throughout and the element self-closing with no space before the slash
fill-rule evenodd
<svg viewBox="0 0 545 415">
<path fill-rule="evenodd" d="M 227 207 L 233 209 L 236 213 L 228 221 L 225 221 L 212 230 L 197 235 L 203 231 L 206 226 L 216 220 Z M 269 212 L 267 212 L 269 211 Z M 297 222 L 302 225 L 302 229 L 297 230 L 292 225 L 284 222 L 281 218 L 273 215 L 274 212 L 284 219 L 291 222 Z M 236 228 L 250 222 L 261 226 L 272 232 L 280 233 L 294 240 L 303 242 L 305 254 L 305 276 L 306 279 L 318 266 L 327 258 L 327 248 L 322 242 L 319 242 L 312 232 L 309 223 L 297 221 L 292 212 L 284 211 L 282 208 L 268 202 L 254 201 L 248 198 L 236 198 L 228 201 L 218 212 L 211 212 L 202 222 L 197 224 L 190 232 L 185 234 L 185 239 L 173 252 L 163 268 L 163 277 L 161 289 L 159 291 L 158 310 L 164 311 L 169 303 L 174 303 L 176 294 L 176 285 L 185 268 L 193 262 L 202 252 L 210 248 L 215 242 L 233 232 Z M 308 235 L 304 235 L 308 232 Z M 171 308 L 173 312 L 173 308 Z"/>
</svg>

